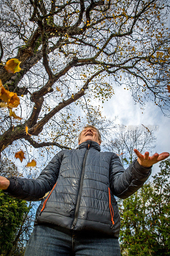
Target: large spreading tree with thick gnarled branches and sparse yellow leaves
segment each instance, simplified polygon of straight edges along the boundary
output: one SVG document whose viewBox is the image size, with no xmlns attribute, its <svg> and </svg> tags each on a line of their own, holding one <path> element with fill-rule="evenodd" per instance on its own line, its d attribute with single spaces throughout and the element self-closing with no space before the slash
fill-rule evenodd
<svg viewBox="0 0 170 256">
<path fill-rule="evenodd" d="M 4 0 L 0 59 L 17 58 L 22 69 L 12 74 L 0 66 L 0 78 L 18 94 L 22 119 L 0 109 L 0 151 L 17 140 L 34 148 L 74 146 L 81 111 L 91 123 L 92 116 L 100 118 L 92 99 L 111 97 L 115 84 L 130 89 L 142 105 L 151 99 L 168 116 L 167 5 L 167 0 Z"/>
</svg>

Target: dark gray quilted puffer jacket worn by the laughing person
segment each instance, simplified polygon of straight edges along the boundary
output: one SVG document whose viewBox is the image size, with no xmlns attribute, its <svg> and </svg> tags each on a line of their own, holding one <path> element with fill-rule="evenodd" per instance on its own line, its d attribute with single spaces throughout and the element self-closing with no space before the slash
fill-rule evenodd
<svg viewBox="0 0 170 256">
<path fill-rule="evenodd" d="M 101 152 L 97 142 L 87 140 L 78 149 L 57 153 L 35 180 L 12 176 L 3 191 L 26 201 L 42 200 L 34 226 L 52 224 L 118 238 L 120 214 L 114 196 L 134 194 L 151 168 L 135 159 L 125 170 L 115 153 Z"/>
</svg>

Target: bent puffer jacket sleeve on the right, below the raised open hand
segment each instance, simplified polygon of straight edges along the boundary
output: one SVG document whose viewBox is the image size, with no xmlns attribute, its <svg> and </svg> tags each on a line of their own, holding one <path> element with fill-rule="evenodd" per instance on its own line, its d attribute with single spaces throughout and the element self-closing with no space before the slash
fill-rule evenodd
<svg viewBox="0 0 170 256">
<path fill-rule="evenodd" d="M 127 169 L 124 169 L 119 156 L 113 154 L 109 170 L 110 188 L 115 196 L 125 199 L 144 185 L 151 175 L 153 165 L 144 168 L 135 159 Z"/>
</svg>

